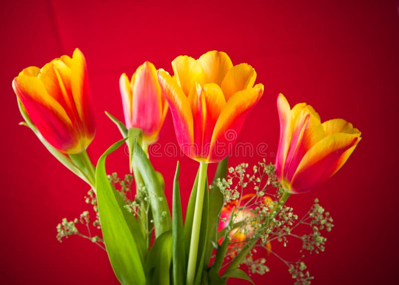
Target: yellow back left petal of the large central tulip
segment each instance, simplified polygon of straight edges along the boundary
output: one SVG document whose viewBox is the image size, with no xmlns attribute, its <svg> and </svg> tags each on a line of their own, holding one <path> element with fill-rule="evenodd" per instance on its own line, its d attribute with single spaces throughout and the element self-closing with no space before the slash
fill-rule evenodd
<svg viewBox="0 0 399 285">
<path fill-rule="evenodd" d="M 172 68 L 176 75 L 176 80 L 182 87 L 186 97 L 192 89 L 196 88 L 196 83 L 203 85 L 206 83 L 206 76 L 197 60 L 194 58 L 181 55 L 172 61 Z"/>
</svg>

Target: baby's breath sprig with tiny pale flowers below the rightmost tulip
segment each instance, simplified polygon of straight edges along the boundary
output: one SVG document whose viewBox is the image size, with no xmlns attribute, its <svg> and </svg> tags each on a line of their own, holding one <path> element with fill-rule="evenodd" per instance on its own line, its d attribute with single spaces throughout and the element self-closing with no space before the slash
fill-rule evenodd
<svg viewBox="0 0 399 285">
<path fill-rule="evenodd" d="M 273 164 L 265 160 L 253 166 L 252 173 L 248 173 L 248 164 L 241 163 L 228 169 L 226 179 L 217 180 L 211 187 L 218 187 L 224 197 L 224 206 L 234 205 L 238 211 L 233 215 L 233 229 L 229 238 L 229 247 L 223 266 L 228 266 L 239 255 L 241 248 L 246 243 L 256 242 L 254 248 L 242 260 L 250 274 L 263 275 L 269 272 L 266 259 L 255 258 L 257 248 L 263 248 L 268 255 L 272 254 L 281 260 L 287 267 L 289 274 L 295 279 L 295 284 L 310 284 L 313 277 L 310 275 L 303 261 L 304 252 L 323 252 L 327 239 L 322 235 L 324 230 L 331 231 L 333 219 L 330 214 L 315 200 L 311 209 L 301 218 L 289 206 L 278 206 L 279 199 L 284 194 L 275 175 Z M 247 189 L 245 189 L 247 188 Z M 251 195 L 244 195 L 250 191 Z M 248 198 L 250 197 L 250 198 Z M 276 214 L 275 208 L 279 207 Z M 225 222 L 222 221 L 221 222 Z M 308 229 L 308 230 L 306 230 Z M 301 231 L 302 234 L 297 232 Z M 245 240 L 236 240 L 234 237 L 243 235 Z M 297 261 L 288 262 L 273 250 L 272 244 L 283 243 L 288 246 L 289 240 L 298 238 L 302 241 L 302 255 Z"/>
</svg>

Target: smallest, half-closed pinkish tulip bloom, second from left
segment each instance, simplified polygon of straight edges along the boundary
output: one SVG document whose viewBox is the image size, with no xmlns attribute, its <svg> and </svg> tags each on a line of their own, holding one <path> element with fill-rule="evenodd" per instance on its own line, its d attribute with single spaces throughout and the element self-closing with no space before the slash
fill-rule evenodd
<svg viewBox="0 0 399 285">
<path fill-rule="evenodd" d="M 125 73 L 119 80 L 125 124 L 128 129 L 143 131 L 143 141 L 156 142 L 168 112 L 154 64 L 146 61 L 129 79 Z"/>
</svg>

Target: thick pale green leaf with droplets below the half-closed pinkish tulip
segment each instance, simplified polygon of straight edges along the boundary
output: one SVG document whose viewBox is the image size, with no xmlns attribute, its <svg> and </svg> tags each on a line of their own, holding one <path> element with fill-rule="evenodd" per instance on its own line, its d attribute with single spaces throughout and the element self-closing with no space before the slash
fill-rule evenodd
<svg viewBox="0 0 399 285">
<path fill-rule="evenodd" d="M 137 140 L 133 140 L 133 163 L 139 170 L 148 192 L 151 211 L 155 226 L 155 237 L 172 229 L 171 212 L 166 200 L 164 189 L 160 185 L 159 175 L 156 174 L 153 165 L 140 147 Z"/>
</svg>

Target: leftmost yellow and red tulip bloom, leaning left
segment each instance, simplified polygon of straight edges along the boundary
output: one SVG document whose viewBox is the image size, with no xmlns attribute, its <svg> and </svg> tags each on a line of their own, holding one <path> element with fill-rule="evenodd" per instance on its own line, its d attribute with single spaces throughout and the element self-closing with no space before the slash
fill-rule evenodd
<svg viewBox="0 0 399 285">
<path fill-rule="evenodd" d="M 79 49 L 72 58 L 53 59 L 42 68 L 23 69 L 12 88 L 43 138 L 63 153 L 79 153 L 96 131 L 86 60 Z"/>
</svg>

